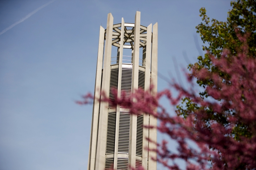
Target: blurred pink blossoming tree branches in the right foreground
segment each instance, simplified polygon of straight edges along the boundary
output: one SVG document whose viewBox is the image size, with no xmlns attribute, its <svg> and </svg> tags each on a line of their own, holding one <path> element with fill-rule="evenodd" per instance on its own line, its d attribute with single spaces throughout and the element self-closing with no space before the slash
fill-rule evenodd
<svg viewBox="0 0 256 170">
<path fill-rule="evenodd" d="M 160 133 L 167 135 L 178 143 L 177 152 L 168 148 L 168 140 L 157 143 L 157 160 L 168 169 L 179 170 L 175 160 L 182 159 L 186 162 L 186 169 L 256 169 L 256 59 L 248 56 L 246 44 L 248 35 L 238 39 L 243 43 L 237 56 L 230 56 L 228 50 L 224 50 L 221 57 L 209 54 L 213 66 L 225 73 L 226 77 L 208 69 L 198 69 L 194 65 L 191 73 L 187 74 L 190 84 L 188 89 L 172 82 L 170 88 L 152 96 L 150 92 L 144 93 L 144 101 L 141 91 L 132 94 L 137 102 L 125 98 L 109 100 L 102 93 L 101 102 L 112 102 L 123 107 L 130 108 L 131 114 L 147 113 L 158 119 L 157 128 Z M 193 80 L 211 80 L 213 83 L 205 87 L 211 100 L 200 97 L 196 93 Z M 173 95 L 173 91 L 178 95 Z M 181 115 L 179 110 L 176 116 L 171 116 L 159 103 L 166 97 L 170 105 L 176 107 L 182 103 L 182 99 L 189 98 L 198 109 L 190 110 L 189 114 Z M 88 103 L 93 96 L 84 96 Z M 157 109 L 157 112 L 155 108 Z M 209 120 L 211 114 L 225 118 L 222 121 Z M 237 131 L 245 131 L 245 135 L 234 134 Z M 193 142 L 197 148 L 191 147 Z"/>
</svg>

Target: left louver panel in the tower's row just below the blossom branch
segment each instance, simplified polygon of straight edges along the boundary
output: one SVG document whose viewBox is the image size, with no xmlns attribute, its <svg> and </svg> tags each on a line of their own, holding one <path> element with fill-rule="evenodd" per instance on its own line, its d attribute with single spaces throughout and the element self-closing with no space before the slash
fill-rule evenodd
<svg viewBox="0 0 256 170">
<path fill-rule="evenodd" d="M 106 154 L 115 151 L 115 135 L 116 135 L 116 112 L 108 113 L 107 142 Z"/>
</svg>

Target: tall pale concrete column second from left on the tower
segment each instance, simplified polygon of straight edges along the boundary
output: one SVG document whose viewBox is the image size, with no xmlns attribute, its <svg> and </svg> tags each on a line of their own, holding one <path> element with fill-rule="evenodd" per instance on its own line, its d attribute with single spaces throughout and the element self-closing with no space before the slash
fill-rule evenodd
<svg viewBox="0 0 256 170">
<path fill-rule="evenodd" d="M 111 64 L 111 47 L 112 47 L 112 32 L 113 32 L 113 16 L 108 14 L 106 43 L 103 64 L 102 88 L 101 91 L 109 96 L 109 81 L 110 81 L 110 64 Z M 108 120 L 108 103 L 100 103 L 98 143 L 95 170 L 103 170 L 105 168 L 105 153 L 106 153 L 106 138 L 107 138 L 107 120 Z"/>
</svg>

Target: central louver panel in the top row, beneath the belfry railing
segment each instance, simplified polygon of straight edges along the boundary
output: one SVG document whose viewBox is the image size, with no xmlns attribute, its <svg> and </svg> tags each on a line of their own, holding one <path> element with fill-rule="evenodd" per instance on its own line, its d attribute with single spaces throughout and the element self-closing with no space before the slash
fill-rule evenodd
<svg viewBox="0 0 256 170">
<path fill-rule="evenodd" d="M 132 68 L 122 68 L 121 98 L 129 99 L 132 91 Z"/>
</svg>

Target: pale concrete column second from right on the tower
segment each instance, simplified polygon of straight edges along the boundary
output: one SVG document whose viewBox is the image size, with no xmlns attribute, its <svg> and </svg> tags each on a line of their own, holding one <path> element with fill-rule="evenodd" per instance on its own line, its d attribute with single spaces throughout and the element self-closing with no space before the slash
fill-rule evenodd
<svg viewBox="0 0 256 170">
<path fill-rule="evenodd" d="M 147 27 L 147 45 L 146 45 L 146 54 L 145 54 L 145 92 L 150 89 L 150 67 L 151 67 L 151 43 L 152 41 L 152 24 Z M 144 51 L 143 51 L 144 53 Z M 144 126 L 149 125 L 149 115 L 144 113 Z M 149 137 L 149 129 L 143 128 L 143 151 L 142 151 L 142 167 L 147 170 L 148 166 L 148 150 L 144 149 L 148 147 L 148 138 Z"/>
</svg>

